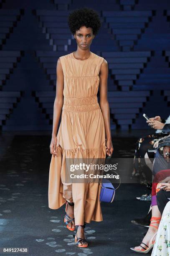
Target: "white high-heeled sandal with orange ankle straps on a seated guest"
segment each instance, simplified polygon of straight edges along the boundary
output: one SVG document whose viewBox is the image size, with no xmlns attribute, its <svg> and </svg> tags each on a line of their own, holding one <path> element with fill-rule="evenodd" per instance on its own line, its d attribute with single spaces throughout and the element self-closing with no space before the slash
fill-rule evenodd
<svg viewBox="0 0 170 256">
<path fill-rule="evenodd" d="M 150 219 L 150 221 L 155 220 L 156 222 L 153 222 L 152 224 L 154 224 L 154 223 L 159 224 L 159 223 L 160 223 L 160 219 L 161 219 L 161 218 L 159 218 L 159 217 L 152 217 L 152 218 Z M 150 226 L 152 226 L 152 227 L 158 229 L 158 227 L 156 227 L 155 225 L 152 225 L 152 224 L 150 224 Z M 148 252 L 153 248 L 153 246 L 154 246 L 155 241 L 153 241 L 153 238 L 154 238 L 156 235 L 157 235 L 157 232 L 151 237 L 150 242 L 149 242 L 148 245 L 145 244 L 145 243 L 141 243 L 141 244 L 144 244 L 147 248 L 145 248 L 145 247 L 143 247 L 143 246 L 140 245 L 140 247 L 141 247 L 140 250 L 134 249 L 134 247 L 131 247 L 130 249 L 131 249 L 132 251 L 136 251 L 136 252 L 139 252 L 139 253 L 148 253 Z"/>
</svg>

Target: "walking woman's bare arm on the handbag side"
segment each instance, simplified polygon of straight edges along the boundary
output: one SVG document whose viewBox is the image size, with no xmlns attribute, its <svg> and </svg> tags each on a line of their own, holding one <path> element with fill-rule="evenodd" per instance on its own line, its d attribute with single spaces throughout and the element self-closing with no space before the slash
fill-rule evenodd
<svg viewBox="0 0 170 256">
<path fill-rule="evenodd" d="M 99 91 L 100 91 L 100 108 L 104 118 L 104 126 L 106 132 L 106 146 L 107 155 L 111 156 L 113 153 L 112 136 L 110 131 L 110 109 L 107 100 L 107 79 L 108 79 L 108 64 L 104 61 L 101 64 L 99 72 Z"/>
</svg>

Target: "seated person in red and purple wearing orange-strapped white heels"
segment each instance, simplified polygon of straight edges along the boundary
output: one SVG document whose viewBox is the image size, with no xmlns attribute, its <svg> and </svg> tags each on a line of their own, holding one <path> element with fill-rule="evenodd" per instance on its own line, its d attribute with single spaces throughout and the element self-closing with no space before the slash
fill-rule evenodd
<svg viewBox="0 0 170 256">
<path fill-rule="evenodd" d="M 165 184 L 165 182 L 163 181 L 167 181 L 167 177 L 170 177 L 169 155 L 170 155 L 170 136 L 167 138 L 163 138 L 158 143 L 157 153 L 156 153 L 156 156 L 154 159 L 154 165 L 153 165 L 154 181 L 152 184 L 152 218 L 150 219 L 150 227 L 145 237 L 143 238 L 140 246 L 131 248 L 133 251 L 140 252 L 140 253 L 147 253 L 154 246 L 157 229 L 159 227 L 161 212 L 162 212 L 162 210 L 160 212 L 160 209 L 162 209 L 162 207 L 160 206 L 159 199 L 158 199 L 159 207 L 157 205 L 157 198 L 159 198 L 160 195 L 162 195 L 162 192 L 159 191 L 156 197 L 156 192 L 157 192 L 156 189 L 159 190 L 160 186 L 163 186 L 163 184 Z M 157 187 L 158 183 L 160 184 Z M 162 197 L 163 196 L 161 196 L 161 198 Z M 165 197 L 163 198 L 164 198 L 164 205 L 165 205 L 166 199 Z"/>
</svg>

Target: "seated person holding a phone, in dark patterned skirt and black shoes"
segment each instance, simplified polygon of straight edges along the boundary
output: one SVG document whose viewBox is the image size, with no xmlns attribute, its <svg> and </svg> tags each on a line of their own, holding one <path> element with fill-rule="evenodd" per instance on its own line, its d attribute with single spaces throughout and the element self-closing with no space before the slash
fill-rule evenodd
<svg viewBox="0 0 170 256">
<path fill-rule="evenodd" d="M 137 147 L 134 155 L 134 169 L 132 176 L 139 176 L 140 183 L 146 184 L 148 188 L 152 188 L 152 172 L 150 166 L 147 162 L 154 159 L 154 152 L 148 152 L 148 149 L 154 149 L 155 142 L 158 142 L 162 137 L 170 135 L 170 116 L 167 120 L 161 119 L 160 116 L 155 116 L 155 118 L 150 118 L 147 121 L 148 125 L 156 130 L 155 134 L 150 134 L 144 138 L 139 138 L 137 141 Z M 147 162 L 146 162 L 147 159 Z M 149 159 L 149 160 L 148 160 Z M 146 201 L 148 201 L 149 196 L 146 195 Z M 145 198 L 142 198 L 143 201 Z M 151 218 L 151 207 L 149 212 L 144 218 L 135 218 L 132 220 L 133 224 L 148 226 Z"/>
</svg>

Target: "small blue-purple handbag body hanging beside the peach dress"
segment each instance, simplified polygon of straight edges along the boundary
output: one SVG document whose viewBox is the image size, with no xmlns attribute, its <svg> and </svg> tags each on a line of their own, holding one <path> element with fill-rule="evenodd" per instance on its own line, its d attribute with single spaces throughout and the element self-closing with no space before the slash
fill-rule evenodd
<svg viewBox="0 0 170 256">
<path fill-rule="evenodd" d="M 102 179 L 101 191 L 100 191 L 100 201 L 101 202 L 113 202 L 115 195 L 115 188 L 109 179 Z"/>
</svg>

